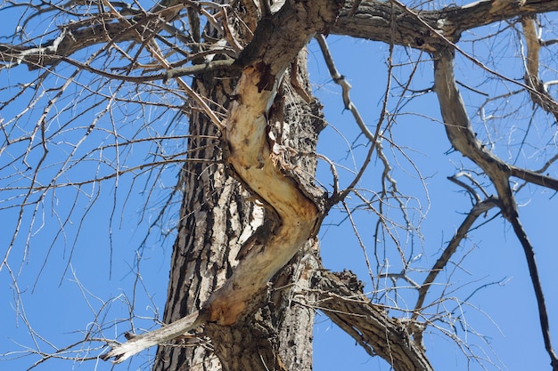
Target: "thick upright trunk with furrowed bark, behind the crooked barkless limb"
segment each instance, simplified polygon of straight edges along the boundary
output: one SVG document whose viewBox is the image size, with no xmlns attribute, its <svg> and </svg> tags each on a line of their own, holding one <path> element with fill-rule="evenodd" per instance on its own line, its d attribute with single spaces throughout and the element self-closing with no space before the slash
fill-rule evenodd
<svg viewBox="0 0 558 371">
<path fill-rule="evenodd" d="M 303 90 L 283 78 L 268 122 L 274 123 L 270 130 L 280 146 L 312 153 L 324 121 L 319 104 L 307 102 L 305 50 L 293 66 L 299 66 L 290 72 L 298 71 Z M 196 77 L 193 88 L 214 101 L 212 108 L 218 110 L 219 106 L 228 107 L 234 85 L 230 75 L 222 78 L 206 73 Z M 209 295 L 230 277 L 242 245 L 261 233 L 258 227 L 267 214 L 219 163 L 222 153 L 215 139 L 217 128 L 208 117 L 193 112 L 190 134 L 191 156 L 209 162 L 188 162 L 182 172 L 185 196 L 172 255 L 165 323 L 201 310 Z M 316 157 L 297 156 L 292 161 L 310 181 Z M 253 298 L 234 326 L 207 324 L 195 336 L 160 345 L 153 370 L 311 369 L 314 310 L 308 304 L 316 298 L 309 297 L 308 288 L 317 268 L 316 248 L 316 241 L 308 241 L 275 275 L 273 284 Z"/>
</svg>

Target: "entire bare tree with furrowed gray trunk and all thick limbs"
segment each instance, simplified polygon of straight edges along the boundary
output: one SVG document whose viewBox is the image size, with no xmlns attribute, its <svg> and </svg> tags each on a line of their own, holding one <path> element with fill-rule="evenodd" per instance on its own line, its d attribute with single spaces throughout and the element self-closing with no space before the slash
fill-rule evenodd
<svg viewBox="0 0 558 371">
<path fill-rule="evenodd" d="M 558 190 L 558 181 L 507 164 L 476 138 L 454 76 L 456 53 L 480 64 L 457 44 L 464 31 L 521 17 L 529 53 L 523 87 L 534 104 L 558 117 L 558 104 L 537 77 L 539 45 L 533 20 L 535 14 L 558 11 L 558 1 L 487 0 L 428 11 L 398 0 L 277 4 L 216 4 L 211 9 L 218 10 L 225 35 L 217 35 L 210 21 L 205 32 L 199 32 L 200 4 L 168 0 L 150 12 L 128 7 L 119 16 L 112 12 L 70 22 L 42 44 L 0 44 L 7 67 L 54 69 L 68 63 L 137 83 L 193 76 L 191 87 L 177 84 L 193 102 L 187 149 L 198 161 L 186 162 L 180 174 L 184 199 L 163 317 L 168 326 L 131 337 L 104 358 L 119 362 L 158 345 L 153 371 L 310 370 L 314 314 L 319 309 L 393 369 L 431 370 L 422 342 L 425 325 L 419 321 L 425 296 L 472 223 L 497 206 L 524 248 L 546 350 L 558 370 L 537 265 L 519 222 L 510 177 L 553 190 Z M 171 23 L 185 7 L 192 32 L 184 36 L 184 44 L 198 45 L 192 52 L 200 55 L 188 60 L 193 66 L 180 68 L 164 60 L 139 30 L 150 24 L 152 34 L 165 30 L 174 35 Z M 236 18 L 230 16 L 233 13 Z M 332 273 L 320 262 L 316 233 L 332 201 L 313 181 L 317 138 L 325 125 L 306 67 L 305 47 L 316 34 L 371 39 L 429 53 L 447 139 L 480 167 L 496 190 L 496 196 L 476 200 L 418 287 L 419 298 L 407 320 L 391 318 L 371 302 L 352 273 Z M 218 44 L 218 37 L 225 42 Z M 87 46 L 111 43 L 141 44 L 163 72 L 118 76 L 71 58 Z"/>
</svg>

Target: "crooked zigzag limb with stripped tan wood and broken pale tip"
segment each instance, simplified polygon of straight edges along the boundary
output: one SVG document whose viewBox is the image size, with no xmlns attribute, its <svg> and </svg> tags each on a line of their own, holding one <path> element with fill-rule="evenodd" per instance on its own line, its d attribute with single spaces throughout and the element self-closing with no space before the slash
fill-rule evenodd
<svg viewBox="0 0 558 371">
<path fill-rule="evenodd" d="M 211 294 L 201 311 L 191 316 L 221 326 L 233 325 L 250 299 L 319 228 L 323 211 L 308 198 L 298 181 L 287 175 L 281 160 L 269 148 L 267 112 L 291 60 L 317 31 L 336 19 L 340 6 L 328 0 L 287 2 L 271 18 L 259 22 L 252 42 L 237 61 L 242 66 L 242 76 L 224 130 L 226 161 L 246 188 L 267 205 L 267 222 L 272 226 L 267 236 L 260 236 L 258 244 L 244 253 L 232 276 Z M 194 328 L 188 324 L 201 324 L 183 319 L 177 322 L 180 326 L 176 322 L 168 325 L 173 330 L 165 334 L 176 337 Z M 152 333 L 135 337 L 130 341 L 133 345 L 120 344 L 104 359 L 116 357 L 115 361 L 120 362 L 144 349 L 138 344 L 148 347 L 173 338 L 157 336 L 152 340 Z"/>
</svg>

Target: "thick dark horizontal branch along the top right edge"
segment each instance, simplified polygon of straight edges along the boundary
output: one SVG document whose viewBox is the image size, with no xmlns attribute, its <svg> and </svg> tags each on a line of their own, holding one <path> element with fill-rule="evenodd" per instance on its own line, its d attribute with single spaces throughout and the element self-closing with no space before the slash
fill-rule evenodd
<svg viewBox="0 0 558 371">
<path fill-rule="evenodd" d="M 443 38 L 451 43 L 457 42 L 468 29 L 523 15 L 558 10 L 558 2 L 553 0 L 483 0 L 464 6 L 452 4 L 435 11 L 411 10 L 395 1 L 372 0 L 358 3 L 355 10 L 354 2 L 347 1 L 339 20 L 330 28 L 330 33 L 430 52 L 447 47 L 447 41 Z"/>
</svg>

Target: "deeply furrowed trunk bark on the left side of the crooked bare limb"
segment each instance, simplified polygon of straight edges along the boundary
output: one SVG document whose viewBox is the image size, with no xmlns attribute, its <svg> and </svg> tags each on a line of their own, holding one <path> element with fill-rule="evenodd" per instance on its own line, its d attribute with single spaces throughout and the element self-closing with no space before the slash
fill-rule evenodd
<svg viewBox="0 0 558 371">
<path fill-rule="evenodd" d="M 234 90 L 234 77 L 222 77 L 207 73 L 193 83 L 196 92 L 216 102 L 213 109 L 218 105 L 226 107 Z M 163 317 L 167 324 L 201 310 L 209 295 L 234 269 L 240 239 L 261 222 L 261 207 L 246 201 L 248 194 L 222 164 L 219 143 L 203 139 L 217 132 L 208 117 L 194 111 L 189 120 L 189 133 L 193 136 L 188 149 L 195 151 L 193 157 L 209 159 L 214 164 L 187 163 L 181 173 L 184 201 L 171 257 Z M 202 334 L 195 336 L 194 331 L 192 336 L 160 345 L 152 369 L 220 369 L 208 342 Z"/>
</svg>

